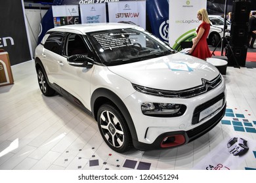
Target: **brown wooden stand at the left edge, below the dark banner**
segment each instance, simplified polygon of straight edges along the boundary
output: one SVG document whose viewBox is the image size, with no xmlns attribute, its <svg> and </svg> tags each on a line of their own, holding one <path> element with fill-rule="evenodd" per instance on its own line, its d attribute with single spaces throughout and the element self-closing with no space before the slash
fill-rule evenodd
<svg viewBox="0 0 256 183">
<path fill-rule="evenodd" d="M 13 76 L 7 52 L 0 52 L 0 86 L 13 84 Z"/>
</svg>

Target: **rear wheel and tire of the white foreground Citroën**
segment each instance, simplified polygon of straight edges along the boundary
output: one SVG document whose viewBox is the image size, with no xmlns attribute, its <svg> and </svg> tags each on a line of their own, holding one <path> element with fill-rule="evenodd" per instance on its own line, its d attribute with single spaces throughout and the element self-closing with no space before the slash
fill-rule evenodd
<svg viewBox="0 0 256 183">
<path fill-rule="evenodd" d="M 51 88 L 51 86 L 49 86 L 49 84 L 47 82 L 47 78 L 46 78 L 45 74 L 43 73 L 42 69 L 37 70 L 37 81 L 38 81 L 39 88 L 40 88 L 41 92 L 43 93 L 43 95 L 45 95 L 47 97 L 54 95 L 55 91 L 53 90 L 53 88 Z"/>
</svg>

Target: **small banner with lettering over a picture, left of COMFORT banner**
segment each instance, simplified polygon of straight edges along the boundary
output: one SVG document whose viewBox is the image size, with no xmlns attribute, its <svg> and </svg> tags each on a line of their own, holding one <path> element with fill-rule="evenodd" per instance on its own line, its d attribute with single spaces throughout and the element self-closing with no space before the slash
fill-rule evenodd
<svg viewBox="0 0 256 183">
<path fill-rule="evenodd" d="M 79 24 L 78 5 L 52 6 L 54 27 Z"/>
</svg>

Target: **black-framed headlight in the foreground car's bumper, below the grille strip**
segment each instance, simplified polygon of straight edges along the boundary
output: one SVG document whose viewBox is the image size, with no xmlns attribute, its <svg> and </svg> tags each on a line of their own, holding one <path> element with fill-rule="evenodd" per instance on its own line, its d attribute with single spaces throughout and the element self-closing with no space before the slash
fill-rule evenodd
<svg viewBox="0 0 256 183">
<path fill-rule="evenodd" d="M 184 114 L 186 106 L 175 103 L 146 102 L 141 104 L 141 111 L 146 116 L 177 117 Z"/>
</svg>

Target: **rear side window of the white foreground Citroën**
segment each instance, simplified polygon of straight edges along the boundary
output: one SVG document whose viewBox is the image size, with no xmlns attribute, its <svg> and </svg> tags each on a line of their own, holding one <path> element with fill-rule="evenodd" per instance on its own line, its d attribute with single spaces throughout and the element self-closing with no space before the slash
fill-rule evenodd
<svg viewBox="0 0 256 183">
<path fill-rule="evenodd" d="M 45 41 L 45 49 L 50 50 L 56 54 L 62 54 L 62 41 L 64 33 L 54 32 L 49 35 L 48 39 Z"/>
</svg>

